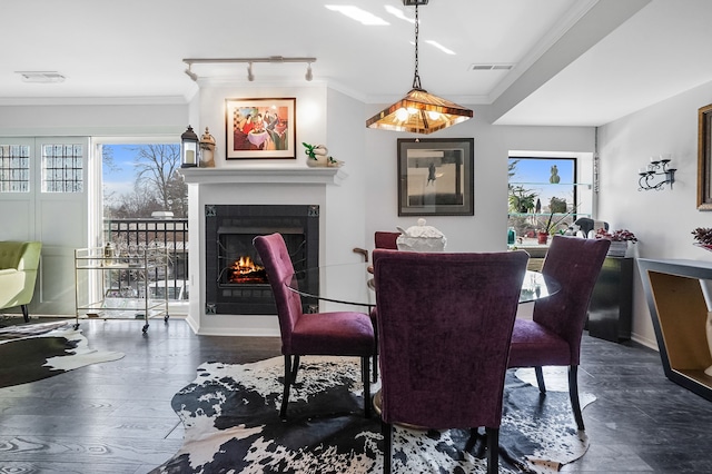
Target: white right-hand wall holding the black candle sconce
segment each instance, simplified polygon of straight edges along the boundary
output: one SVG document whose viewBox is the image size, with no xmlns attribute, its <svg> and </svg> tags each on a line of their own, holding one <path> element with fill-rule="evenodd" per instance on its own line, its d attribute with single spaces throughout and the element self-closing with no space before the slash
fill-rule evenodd
<svg viewBox="0 0 712 474">
<path fill-rule="evenodd" d="M 600 129 L 599 218 L 632 230 L 640 257 L 712 260 L 712 253 L 692 245 L 691 235 L 696 227 L 712 227 L 712 213 L 696 209 L 698 109 L 711 102 L 709 82 Z M 639 168 L 661 154 L 673 154 L 673 189 L 639 191 Z M 633 293 L 633 337 L 656 347 L 637 268 Z"/>
</svg>

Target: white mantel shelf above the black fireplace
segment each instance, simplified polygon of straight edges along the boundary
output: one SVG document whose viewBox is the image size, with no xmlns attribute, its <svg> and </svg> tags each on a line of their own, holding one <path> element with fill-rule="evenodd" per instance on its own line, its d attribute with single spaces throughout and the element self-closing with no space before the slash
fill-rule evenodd
<svg viewBox="0 0 712 474">
<path fill-rule="evenodd" d="M 181 168 L 188 184 L 219 185 L 233 182 L 340 185 L 348 174 L 343 168 L 306 166 L 250 166 L 239 168 Z"/>
</svg>

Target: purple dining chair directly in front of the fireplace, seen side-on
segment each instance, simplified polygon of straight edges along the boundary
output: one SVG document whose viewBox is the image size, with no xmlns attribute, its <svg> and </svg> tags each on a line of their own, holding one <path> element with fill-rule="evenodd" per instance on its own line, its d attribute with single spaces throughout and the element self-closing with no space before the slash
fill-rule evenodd
<svg viewBox="0 0 712 474">
<path fill-rule="evenodd" d="M 294 267 L 280 234 L 257 236 L 254 240 L 275 296 L 285 357 L 284 395 L 279 416 L 286 418 L 289 387 L 296 381 L 299 356 L 357 356 L 362 359 L 364 414 L 370 416 L 369 359 L 376 352 L 374 327 L 368 315 L 353 312 L 308 313 L 301 297 L 287 288 Z M 286 282 L 286 283 L 285 283 Z"/>
</svg>

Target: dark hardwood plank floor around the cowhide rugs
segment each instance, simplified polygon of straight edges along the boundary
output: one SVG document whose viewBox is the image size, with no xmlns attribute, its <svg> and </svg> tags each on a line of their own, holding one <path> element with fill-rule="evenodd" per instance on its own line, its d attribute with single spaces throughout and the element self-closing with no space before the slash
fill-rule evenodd
<svg viewBox="0 0 712 474">
<path fill-rule="evenodd" d="M 185 320 L 83 320 L 92 348 L 120 350 L 31 384 L 0 388 L 0 473 L 146 473 L 172 456 L 172 395 L 202 362 L 279 355 L 279 339 L 196 336 Z M 566 473 L 712 472 L 712 402 L 665 378 L 656 352 L 584 336 L 583 412 L 591 448 Z M 572 426 L 574 425 L 572 417 Z"/>
</svg>

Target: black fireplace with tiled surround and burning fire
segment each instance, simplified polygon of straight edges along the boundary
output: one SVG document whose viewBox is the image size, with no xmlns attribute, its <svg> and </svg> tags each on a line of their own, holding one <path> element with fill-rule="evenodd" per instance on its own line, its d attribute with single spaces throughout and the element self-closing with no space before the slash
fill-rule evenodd
<svg viewBox="0 0 712 474">
<path fill-rule="evenodd" d="M 206 314 L 277 314 L 263 263 L 253 245 L 258 235 L 281 234 L 295 271 L 319 265 L 317 205 L 206 205 L 205 220 Z M 254 263 L 255 270 L 245 270 L 244 261 Z M 316 292 L 318 276 L 305 276 L 299 286 Z M 303 298 L 303 306 L 305 313 L 314 312 L 314 302 Z"/>
</svg>

